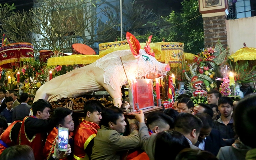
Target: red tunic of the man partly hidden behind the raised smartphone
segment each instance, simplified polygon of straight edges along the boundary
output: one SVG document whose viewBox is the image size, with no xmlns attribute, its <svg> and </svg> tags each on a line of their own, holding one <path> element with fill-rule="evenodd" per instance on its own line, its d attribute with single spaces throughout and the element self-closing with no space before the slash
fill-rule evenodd
<svg viewBox="0 0 256 160">
<path fill-rule="evenodd" d="M 72 138 L 69 136 L 69 139 Z M 54 153 L 54 147 L 56 144 L 56 140 L 58 140 L 58 128 L 53 128 L 51 133 L 47 136 L 45 147 L 43 148 L 43 155 L 46 160 L 48 160 L 51 155 Z M 64 158 L 62 160 L 67 160 L 68 158 Z"/>
</svg>

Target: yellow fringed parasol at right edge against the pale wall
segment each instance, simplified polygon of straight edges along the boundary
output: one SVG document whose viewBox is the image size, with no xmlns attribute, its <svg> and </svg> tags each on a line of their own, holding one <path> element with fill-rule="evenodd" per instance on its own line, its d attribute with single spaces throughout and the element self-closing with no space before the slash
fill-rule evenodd
<svg viewBox="0 0 256 160">
<path fill-rule="evenodd" d="M 231 58 L 233 58 L 234 61 L 256 60 L 256 48 L 250 48 L 245 46 L 232 54 Z"/>
</svg>

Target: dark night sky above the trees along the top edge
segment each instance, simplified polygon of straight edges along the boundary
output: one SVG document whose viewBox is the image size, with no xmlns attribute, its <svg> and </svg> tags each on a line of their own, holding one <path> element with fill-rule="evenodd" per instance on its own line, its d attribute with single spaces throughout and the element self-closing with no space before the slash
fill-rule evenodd
<svg viewBox="0 0 256 160">
<path fill-rule="evenodd" d="M 35 0 L 34 0 L 35 1 Z M 118 0 L 119 1 L 119 0 Z M 181 10 L 181 2 L 183 0 L 136 0 L 138 4 L 145 4 L 146 8 L 153 9 L 159 15 L 169 15 L 172 10 L 179 12 Z M 0 0 L 0 4 L 15 4 L 16 11 L 23 9 L 28 11 L 33 7 L 33 0 Z"/>
</svg>

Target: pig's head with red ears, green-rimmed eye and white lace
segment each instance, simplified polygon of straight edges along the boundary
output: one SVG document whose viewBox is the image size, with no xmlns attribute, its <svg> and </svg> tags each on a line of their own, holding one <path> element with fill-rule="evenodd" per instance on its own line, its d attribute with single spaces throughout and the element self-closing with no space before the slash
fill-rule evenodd
<svg viewBox="0 0 256 160">
<path fill-rule="evenodd" d="M 140 49 L 139 41 L 131 33 L 126 33 L 126 39 L 131 50 L 118 50 L 107 54 L 96 61 L 96 67 L 104 70 L 104 83 L 111 85 L 113 89 L 117 86 L 126 85 L 127 79 L 141 78 L 146 76 L 149 79 L 165 76 L 170 71 L 169 64 L 160 63 L 154 58 L 154 52 L 149 47 L 151 37 L 144 47 Z M 132 52 L 131 52 L 132 51 Z M 124 68 L 120 60 L 122 59 Z"/>
</svg>

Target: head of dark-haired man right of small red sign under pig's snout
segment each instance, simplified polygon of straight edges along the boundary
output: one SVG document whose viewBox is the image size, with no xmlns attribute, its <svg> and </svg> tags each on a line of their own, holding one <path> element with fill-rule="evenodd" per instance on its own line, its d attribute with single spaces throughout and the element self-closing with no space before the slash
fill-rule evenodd
<svg viewBox="0 0 256 160">
<path fill-rule="evenodd" d="M 189 98 L 182 98 L 178 101 L 178 112 L 179 113 L 192 113 L 194 103 Z"/>
</svg>

